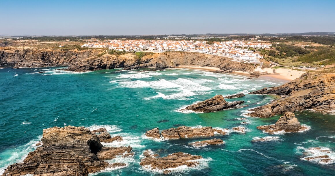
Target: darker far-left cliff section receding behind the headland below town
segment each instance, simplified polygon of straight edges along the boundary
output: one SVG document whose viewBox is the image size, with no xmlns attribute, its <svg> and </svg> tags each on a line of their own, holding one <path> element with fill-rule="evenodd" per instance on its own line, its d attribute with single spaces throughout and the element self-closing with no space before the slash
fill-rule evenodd
<svg viewBox="0 0 335 176">
<path fill-rule="evenodd" d="M 23 49 L 0 51 L 0 66 L 5 64 L 19 67 L 50 67 L 71 65 L 82 59 L 97 56 L 99 50 L 52 50 Z"/>
</svg>

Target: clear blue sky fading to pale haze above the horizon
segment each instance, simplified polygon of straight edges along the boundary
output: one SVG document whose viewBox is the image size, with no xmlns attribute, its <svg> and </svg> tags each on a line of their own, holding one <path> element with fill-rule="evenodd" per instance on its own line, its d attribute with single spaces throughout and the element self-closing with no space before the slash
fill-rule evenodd
<svg viewBox="0 0 335 176">
<path fill-rule="evenodd" d="M 335 31 L 335 0 L 0 0 L 0 35 Z"/>
</svg>

